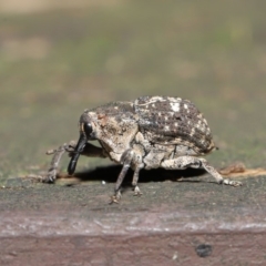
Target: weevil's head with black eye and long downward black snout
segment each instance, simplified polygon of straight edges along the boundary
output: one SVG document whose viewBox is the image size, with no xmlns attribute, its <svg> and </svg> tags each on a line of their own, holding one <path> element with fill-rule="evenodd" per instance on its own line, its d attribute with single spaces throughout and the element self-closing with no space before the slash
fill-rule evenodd
<svg viewBox="0 0 266 266">
<path fill-rule="evenodd" d="M 89 140 L 95 140 L 95 137 L 93 136 L 92 120 L 93 117 L 91 117 L 88 112 L 84 112 L 80 117 L 80 139 L 69 163 L 68 172 L 70 175 L 74 173 L 78 160 L 80 157 L 80 154 L 83 152 L 86 142 Z"/>
</svg>

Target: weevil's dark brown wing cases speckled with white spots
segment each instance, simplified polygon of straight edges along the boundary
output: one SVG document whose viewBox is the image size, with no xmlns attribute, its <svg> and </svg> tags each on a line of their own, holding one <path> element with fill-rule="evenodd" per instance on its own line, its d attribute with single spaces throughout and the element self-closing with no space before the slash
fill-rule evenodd
<svg viewBox="0 0 266 266">
<path fill-rule="evenodd" d="M 188 100 L 168 96 L 142 96 L 134 102 L 140 131 L 152 143 L 182 144 L 197 154 L 215 145 L 207 121 Z"/>
</svg>

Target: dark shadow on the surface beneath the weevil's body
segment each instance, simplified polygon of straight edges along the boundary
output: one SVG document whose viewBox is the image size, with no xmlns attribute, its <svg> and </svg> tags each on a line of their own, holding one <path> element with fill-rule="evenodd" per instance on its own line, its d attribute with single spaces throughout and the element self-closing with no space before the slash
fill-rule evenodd
<svg viewBox="0 0 266 266">
<path fill-rule="evenodd" d="M 121 172 L 121 165 L 109 165 L 101 166 L 90 171 L 76 172 L 74 176 L 80 181 L 105 181 L 110 183 L 115 183 L 117 176 Z M 206 174 L 205 170 L 202 168 L 186 168 L 186 170 L 164 170 L 164 168 L 153 168 L 153 170 L 142 170 L 140 173 L 139 183 L 147 182 L 164 182 L 173 181 L 176 182 L 182 178 L 185 182 L 201 182 L 193 181 L 191 177 L 197 177 Z M 133 177 L 133 171 L 129 170 L 125 175 L 124 184 L 131 183 Z M 190 177 L 190 180 L 187 180 Z"/>
</svg>

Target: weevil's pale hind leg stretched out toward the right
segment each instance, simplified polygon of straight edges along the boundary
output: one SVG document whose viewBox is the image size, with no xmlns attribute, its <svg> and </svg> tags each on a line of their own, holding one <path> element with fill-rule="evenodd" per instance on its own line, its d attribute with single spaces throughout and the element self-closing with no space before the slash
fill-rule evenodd
<svg viewBox="0 0 266 266">
<path fill-rule="evenodd" d="M 238 181 L 223 178 L 223 176 L 213 166 L 211 166 L 205 158 L 198 158 L 194 156 L 180 156 L 177 158 L 166 160 L 162 162 L 161 165 L 166 170 L 182 170 L 187 167 L 205 168 L 217 181 L 218 184 L 232 186 L 242 185 L 242 183 Z"/>
</svg>

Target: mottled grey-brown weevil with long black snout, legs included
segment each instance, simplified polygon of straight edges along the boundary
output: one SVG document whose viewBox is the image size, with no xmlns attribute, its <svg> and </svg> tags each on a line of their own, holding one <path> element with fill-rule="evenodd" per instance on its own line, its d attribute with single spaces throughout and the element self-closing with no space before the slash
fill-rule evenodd
<svg viewBox="0 0 266 266">
<path fill-rule="evenodd" d="M 53 160 L 45 181 L 57 177 L 59 161 L 69 152 L 68 172 L 72 175 L 80 155 L 110 157 L 122 164 L 112 202 L 121 197 L 120 188 L 127 170 L 134 171 L 132 185 L 140 195 L 139 173 L 142 168 L 205 168 L 219 184 L 239 186 L 224 180 L 206 160 L 200 157 L 215 149 L 211 130 L 195 105 L 180 98 L 141 96 L 134 102 L 112 102 L 85 110 L 80 117 L 80 139 L 49 152 Z M 96 147 L 89 141 L 99 141 Z"/>
</svg>

